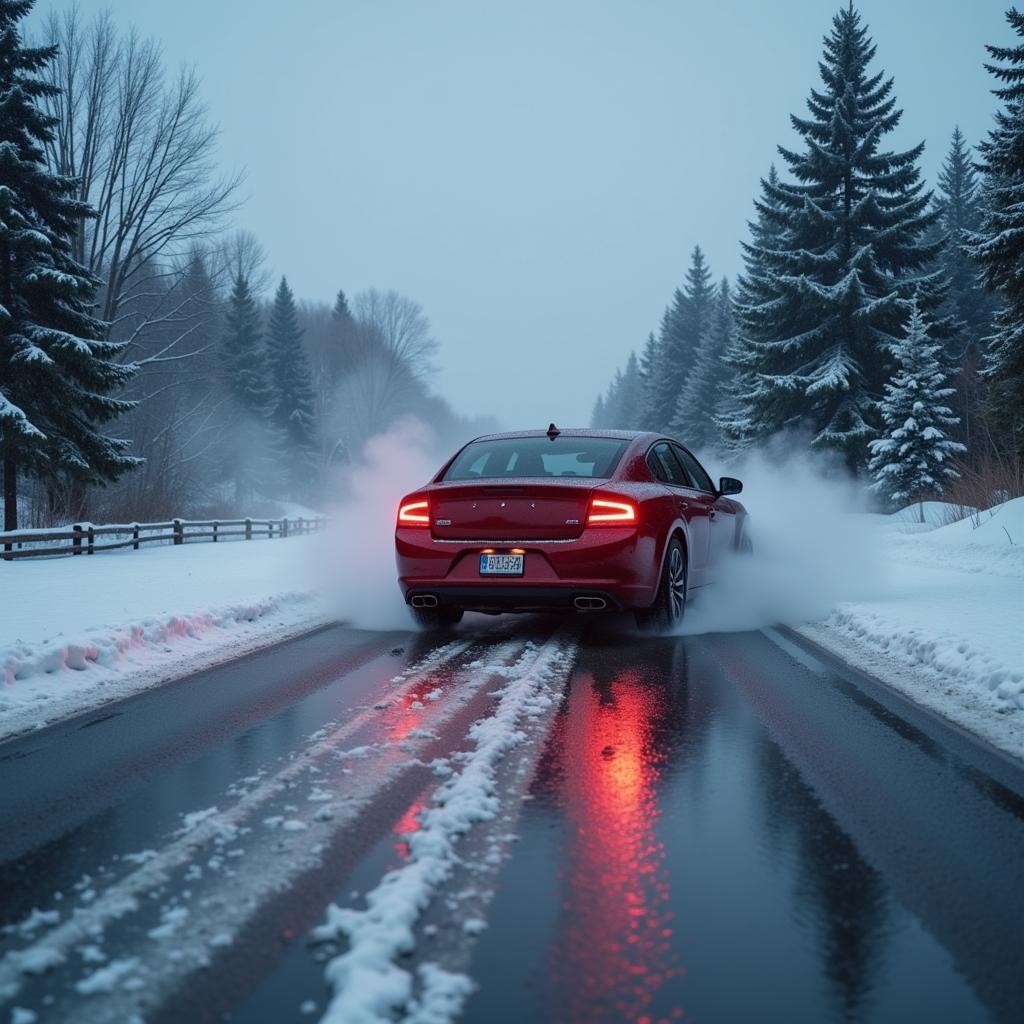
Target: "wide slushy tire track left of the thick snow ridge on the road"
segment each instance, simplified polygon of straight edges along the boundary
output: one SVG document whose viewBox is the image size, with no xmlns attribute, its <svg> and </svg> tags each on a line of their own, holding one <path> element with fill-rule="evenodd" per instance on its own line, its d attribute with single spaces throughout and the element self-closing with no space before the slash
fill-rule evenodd
<svg viewBox="0 0 1024 1024">
<path fill-rule="evenodd" d="M 131 950 L 130 971 L 122 972 L 126 977 L 115 976 L 116 970 L 112 972 L 124 959 L 113 958 L 100 964 L 98 970 L 94 964 L 85 977 L 78 979 L 78 989 L 83 994 L 95 994 L 75 999 L 76 986 L 69 983 L 63 986 L 63 994 L 74 999 L 73 1009 L 61 1007 L 60 1012 L 70 1012 L 73 1019 L 85 1024 L 90 1020 L 131 1020 L 140 1012 L 140 993 L 144 993 L 145 1011 L 159 1006 L 181 977 L 208 966 L 217 948 L 231 944 L 266 896 L 317 866 L 324 849 L 358 818 L 377 793 L 411 763 L 417 763 L 417 752 L 436 741 L 435 730 L 493 680 L 488 670 L 504 669 L 524 646 L 519 641 L 494 639 L 497 644 L 484 637 L 456 640 L 435 648 L 391 680 L 398 689 L 389 694 L 390 699 L 337 728 L 313 733 L 312 745 L 272 776 L 258 779 L 252 786 L 240 788 L 237 783 L 230 787 L 228 792 L 238 795 L 233 806 L 185 815 L 171 842 L 134 858 L 138 863 L 134 870 L 90 902 L 77 906 L 70 918 L 44 931 L 34 930 L 30 945 L 7 952 L 0 959 L 0 999 L 12 999 L 29 977 L 51 969 L 75 972 L 78 964 L 72 963 L 73 952 L 96 947 L 110 926 L 119 924 L 123 929 L 133 915 L 152 912 L 155 904 L 147 897 L 170 884 L 176 873 L 187 872 L 184 879 L 191 883 L 187 901 L 165 907 L 156 928 L 133 931 L 132 941 L 143 948 Z M 481 649 L 485 665 L 477 656 Z M 471 666 L 458 664 L 470 657 L 476 657 Z M 420 727 L 396 734 L 395 722 L 400 721 L 400 712 L 411 707 L 412 695 L 418 690 L 427 693 L 447 670 L 453 679 L 451 698 L 416 701 L 424 713 Z M 361 731 L 380 729 L 382 725 L 392 733 L 387 741 L 343 749 Z M 357 771 L 349 767 L 356 762 Z M 295 791 L 303 781 L 311 788 L 301 799 Z M 262 820 L 257 817 L 275 810 L 273 805 L 283 799 L 297 802 L 286 805 L 291 808 L 287 815 L 264 816 Z M 268 838 L 275 842 L 266 842 Z M 306 845 L 304 841 L 310 838 L 314 842 Z M 204 889 L 211 891 L 204 894 Z M 141 938 L 146 931 L 151 942 Z M 167 940 L 172 937 L 174 941 L 168 948 Z M 111 975 L 110 985 L 104 972 Z"/>
</svg>

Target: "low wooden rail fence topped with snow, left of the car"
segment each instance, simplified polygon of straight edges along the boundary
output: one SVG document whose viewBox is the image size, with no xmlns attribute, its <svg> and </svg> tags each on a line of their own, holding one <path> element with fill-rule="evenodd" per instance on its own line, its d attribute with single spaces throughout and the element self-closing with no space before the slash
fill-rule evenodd
<svg viewBox="0 0 1024 1024">
<path fill-rule="evenodd" d="M 315 534 L 325 516 L 294 519 L 170 519 L 167 522 L 129 522 L 96 526 L 76 523 L 54 529 L 0 531 L 0 559 L 41 558 L 53 555 L 92 555 L 97 551 L 132 548 L 141 544 L 191 544 L 194 541 L 245 540 Z"/>
</svg>

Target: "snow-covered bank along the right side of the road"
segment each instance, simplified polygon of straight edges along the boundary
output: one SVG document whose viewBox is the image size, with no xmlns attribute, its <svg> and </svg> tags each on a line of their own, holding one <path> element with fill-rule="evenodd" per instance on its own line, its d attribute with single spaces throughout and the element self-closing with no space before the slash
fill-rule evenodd
<svg viewBox="0 0 1024 1024">
<path fill-rule="evenodd" d="M 801 632 L 1024 758 L 1024 498 L 957 514 L 872 517 L 884 586 Z"/>
</svg>

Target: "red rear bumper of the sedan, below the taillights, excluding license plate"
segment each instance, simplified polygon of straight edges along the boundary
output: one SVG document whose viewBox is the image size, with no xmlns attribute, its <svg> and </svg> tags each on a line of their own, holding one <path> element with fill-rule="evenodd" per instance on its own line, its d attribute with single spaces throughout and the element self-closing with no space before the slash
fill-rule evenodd
<svg viewBox="0 0 1024 1024">
<path fill-rule="evenodd" d="M 486 548 L 524 552 L 522 577 L 481 577 Z M 626 527 L 586 530 L 572 541 L 434 540 L 427 530 L 395 534 L 398 584 L 406 601 L 481 610 L 573 610 L 577 598 L 601 598 L 610 608 L 647 607 L 657 588 L 652 539 Z M 432 602 L 431 602 L 432 603 Z"/>
</svg>

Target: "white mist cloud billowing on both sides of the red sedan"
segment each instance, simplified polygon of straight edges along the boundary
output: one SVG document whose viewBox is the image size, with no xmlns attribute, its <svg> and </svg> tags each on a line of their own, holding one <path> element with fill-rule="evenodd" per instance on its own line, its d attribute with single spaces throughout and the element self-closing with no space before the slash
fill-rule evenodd
<svg viewBox="0 0 1024 1024">
<path fill-rule="evenodd" d="M 393 572 L 395 513 L 451 454 L 425 423 L 410 418 L 371 438 L 354 465 L 337 471 L 331 527 L 310 572 L 340 620 L 370 630 L 410 628 Z M 721 468 L 714 457 L 706 465 Z M 775 444 L 746 453 L 728 472 L 743 480 L 754 552 L 730 554 L 717 582 L 691 593 L 680 634 L 796 626 L 839 602 L 884 596 L 876 527 L 859 514 L 865 494 L 834 462 Z M 602 614 L 632 628 L 632 615 Z"/>
</svg>

